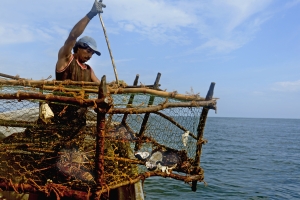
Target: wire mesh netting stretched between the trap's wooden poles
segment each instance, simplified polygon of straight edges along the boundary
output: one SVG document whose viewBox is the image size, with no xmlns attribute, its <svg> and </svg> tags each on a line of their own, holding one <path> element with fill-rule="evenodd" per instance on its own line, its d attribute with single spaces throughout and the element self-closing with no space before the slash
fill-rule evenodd
<svg viewBox="0 0 300 200">
<path fill-rule="evenodd" d="M 0 88 L 0 184 L 28 184 L 42 192 L 45 186 L 88 192 L 97 185 L 96 106 L 41 99 L 20 100 L 18 92 L 97 99 L 95 93 L 68 93 L 34 87 Z M 62 90 L 60 90 L 62 91 Z M 3 95 L 11 95 L 9 98 Z M 181 100 L 157 95 L 111 94 L 113 108 L 149 108 Z M 44 119 L 42 105 L 54 117 Z M 105 117 L 105 188 L 137 182 L 150 175 L 189 182 L 201 176 L 195 167 L 197 127 L 201 107 L 174 107 L 144 113 L 114 113 Z M 194 166 L 194 167 L 193 167 Z M 198 171 L 197 171 L 197 170 Z M 199 171 L 200 170 L 200 171 Z M 101 185 L 103 187 L 103 184 Z M 21 190 L 15 185 L 15 190 Z M 25 190 L 24 188 L 22 188 Z"/>
</svg>

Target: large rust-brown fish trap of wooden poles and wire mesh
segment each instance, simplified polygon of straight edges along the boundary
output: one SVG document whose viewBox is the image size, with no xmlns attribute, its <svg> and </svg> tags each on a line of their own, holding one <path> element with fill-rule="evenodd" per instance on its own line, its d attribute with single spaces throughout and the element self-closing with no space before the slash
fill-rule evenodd
<svg viewBox="0 0 300 200">
<path fill-rule="evenodd" d="M 204 181 L 205 98 L 74 81 L 0 79 L 0 188 L 54 199 L 108 199 L 116 188 L 161 176 Z M 45 118 L 50 108 L 54 117 Z M 157 153 L 159 152 L 159 153 Z"/>
</svg>

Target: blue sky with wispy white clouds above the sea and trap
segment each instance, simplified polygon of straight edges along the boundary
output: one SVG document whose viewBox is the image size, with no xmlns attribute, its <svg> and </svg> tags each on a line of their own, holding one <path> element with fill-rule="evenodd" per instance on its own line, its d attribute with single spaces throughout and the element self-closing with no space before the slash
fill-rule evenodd
<svg viewBox="0 0 300 200">
<path fill-rule="evenodd" d="M 2 1 L 0 73 L 55 78 L 57 53 L 93 0 Z M 205 97 L 210 117 L 300 119 L 300 0 L 103 0 L 118 79 Z M 99 17 L 82 36 L 101 56 L 88 62 L 100 79 L 115 75 Z"/>
</svg>

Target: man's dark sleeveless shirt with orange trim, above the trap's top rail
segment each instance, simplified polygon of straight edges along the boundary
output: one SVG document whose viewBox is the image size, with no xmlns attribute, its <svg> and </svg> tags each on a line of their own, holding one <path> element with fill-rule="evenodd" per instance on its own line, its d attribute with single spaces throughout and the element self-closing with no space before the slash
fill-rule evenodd
<svg viewBox="0 0 300 200">
<path fill-rule="evenodd" d="M 64 69 L 60 71 L 55 71 L 56 80 L 72 80 L 72 81 L 88 81 L 91 82 L 91 72 L 92 68 L 87 64 L 79 63 L 74 56 L 70 63 Z"/>
</svg>

